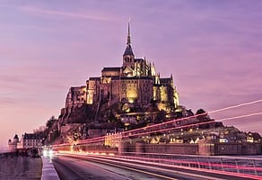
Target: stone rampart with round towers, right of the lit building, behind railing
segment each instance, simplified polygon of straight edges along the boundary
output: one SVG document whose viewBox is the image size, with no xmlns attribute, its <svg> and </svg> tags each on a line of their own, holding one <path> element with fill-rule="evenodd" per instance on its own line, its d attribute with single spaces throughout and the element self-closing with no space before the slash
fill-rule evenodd
<svg viewBox="0 0 262 180">
<path fill-rule="evenodd" d="M 261 143 L 217 143 L 203 141 L 198 144 L 146 144 L 144 142 L 119 143 L 118 153 L 164 153 L 183 155 L 261 155 Z"/>
</svg>

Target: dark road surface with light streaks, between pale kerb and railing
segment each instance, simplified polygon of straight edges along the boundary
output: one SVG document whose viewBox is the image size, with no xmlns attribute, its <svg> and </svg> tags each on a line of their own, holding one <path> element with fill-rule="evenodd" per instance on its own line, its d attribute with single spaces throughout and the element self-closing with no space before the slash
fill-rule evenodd
<svg viewBox="0 0 262 180">
<path fill-rule="evenodd" d="M 112 159 L 113 157 L 59 155 L 53 159 L 53 163 L 62 180 L 247 179 Z"/>
</svg>

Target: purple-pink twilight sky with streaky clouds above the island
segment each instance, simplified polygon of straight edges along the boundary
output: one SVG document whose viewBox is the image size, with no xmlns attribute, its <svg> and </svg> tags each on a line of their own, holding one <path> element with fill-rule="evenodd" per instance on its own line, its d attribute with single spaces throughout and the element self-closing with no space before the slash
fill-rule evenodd
<svg viewBox="0 0 262 180">
<path fill-rule="evenodd" d="M 44 125 L 70 86 L 136 58 L 174 76 L 180 104 L 214 111 L 262 99 L 262 1 L 1 0 L 0 147 Z M 211 117 L 262 112 L 254 103 Z M 262 132 L 262 116 L 223 121 Z"/>
</svg>

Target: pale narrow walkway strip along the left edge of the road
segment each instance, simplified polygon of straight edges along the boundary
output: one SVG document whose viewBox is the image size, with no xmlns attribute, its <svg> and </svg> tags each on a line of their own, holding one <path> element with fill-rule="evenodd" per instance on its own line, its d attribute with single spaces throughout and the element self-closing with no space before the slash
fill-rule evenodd
<svg viewBox="0 0 262 180">
<path fill-rule="evenodd" d="M 41 180 L 59 180 L 57 171 L 53 166 L 52 160 L 48 157 L 42 157 L 43 168 Z"/>
</svg>

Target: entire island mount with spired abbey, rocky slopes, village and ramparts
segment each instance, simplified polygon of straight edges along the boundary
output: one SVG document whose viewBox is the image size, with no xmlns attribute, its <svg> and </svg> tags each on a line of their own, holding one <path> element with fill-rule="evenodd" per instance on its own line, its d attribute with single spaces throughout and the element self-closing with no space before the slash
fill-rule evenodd
<svg viewBox="0 0 262 180">
<path fill-rule="evenodd" d="M 172 73 L 162 77 L 149 59 L 135 58 L 129 23 L 121 61 L 120 67 L 103 67 L 100 76 L 70 87 L 58 118 L 51 117 L 45 128 L 25 133 L 21 140 L 15 135 L 10 149 L 41 146 L 44 139 L 57 150 L 261 154 L 257 132 L 225 127 L 204 109 L 194 113 L 180 105 Z"/>
</svg>

